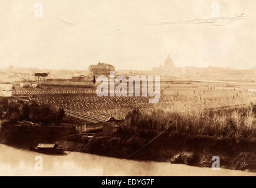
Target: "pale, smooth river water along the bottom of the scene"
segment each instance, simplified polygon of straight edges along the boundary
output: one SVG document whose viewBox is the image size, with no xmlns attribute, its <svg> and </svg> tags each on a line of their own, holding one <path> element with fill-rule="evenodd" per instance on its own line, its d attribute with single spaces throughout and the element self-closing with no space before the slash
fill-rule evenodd
<svg viewBox="0 0 256 188">
<path fill-rule="evenodd" d="M 41 170 L 35 160 L 37 156 L 42 159 Z M 0 176 L 256 176 L 256 173 L 141 162 L 79 152 L 44 155 L 0 144 Z"/>
</svg>

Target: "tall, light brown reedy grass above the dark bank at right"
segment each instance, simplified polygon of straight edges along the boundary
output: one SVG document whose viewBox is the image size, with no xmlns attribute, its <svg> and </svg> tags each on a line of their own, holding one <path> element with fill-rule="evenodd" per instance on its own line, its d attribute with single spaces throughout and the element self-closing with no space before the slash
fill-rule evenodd
<svg viewBox="0 0 256 188">
<path fill-rule="evenodd" d="M 188 109 L 189 110 L 189 109 Z M 169 131 L 187 136 L 229 137 L 237 140 L 255 139 L 256 105 L 240 108 L 166 112 L 157 109 L 150 114 L 135 109 L 127 115 L 127 126 L 146 130 L 163 130 L 174 120 Z"/>
</svg>

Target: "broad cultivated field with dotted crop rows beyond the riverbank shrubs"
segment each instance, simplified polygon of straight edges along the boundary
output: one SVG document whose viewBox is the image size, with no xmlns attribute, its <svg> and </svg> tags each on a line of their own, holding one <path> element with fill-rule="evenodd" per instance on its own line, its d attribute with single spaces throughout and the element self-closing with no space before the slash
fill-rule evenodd
<svg viewBox="0 0 256 188">
<path fill-rule="evenodd" d="M 29 100 L 69 109 L 84 115 L 107 119 L 123 119 L 127 112 L 139 108 L 145 113 L 153 109 L 169 112 L 188 112 L 209 108 L 228 108 L 255 102 L 255 85 L 225 83 L 160 83 L 160 100 L 149 103 L 148 97 L 99 97 L 96 89 L 21 89 L 15 95 Z"/>
</svg>

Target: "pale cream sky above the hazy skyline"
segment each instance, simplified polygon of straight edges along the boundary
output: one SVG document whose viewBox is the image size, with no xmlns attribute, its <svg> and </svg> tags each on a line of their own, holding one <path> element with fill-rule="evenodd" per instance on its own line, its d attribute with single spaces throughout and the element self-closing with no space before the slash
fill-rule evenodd
<svg viewBox="0 0 256 188">
<path fill-rule="evenodd" d="M 42 18 L 35 4 L 42 3 Z M 230 24 L 182 24 L 239 16 Z M 256 1 L 1 0 L 0 67 L 150 70 L 170 55 L 176 66 L 256 66 Z M 160 24 L 175 22 L 174 24 Z"/>
</svg>

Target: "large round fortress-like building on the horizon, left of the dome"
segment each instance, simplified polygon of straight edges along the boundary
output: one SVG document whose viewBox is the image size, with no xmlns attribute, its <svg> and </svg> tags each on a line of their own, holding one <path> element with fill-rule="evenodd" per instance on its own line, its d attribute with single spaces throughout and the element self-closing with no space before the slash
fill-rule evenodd
<svg viewBox="0 0 256 188">
<path fill-rule="evenodd" d="M 114 66 L 107 64 L 107 63 L 98 63 L 97 65 L 90 65 L 89 66 L 89 78 L 93 78 L 95 76 L 109 76 L 110 71 L 114 71 Z"/>
</svg>

